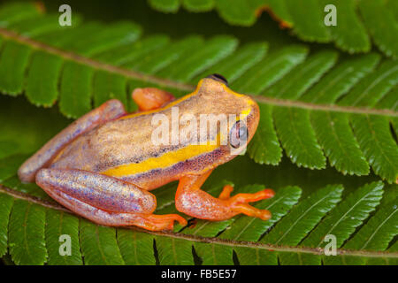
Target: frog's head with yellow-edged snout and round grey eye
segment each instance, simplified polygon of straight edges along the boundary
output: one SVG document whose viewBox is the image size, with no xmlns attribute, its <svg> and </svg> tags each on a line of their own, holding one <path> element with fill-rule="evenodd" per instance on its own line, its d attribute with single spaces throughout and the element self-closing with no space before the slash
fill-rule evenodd
<svg viewBox="0 0 398 283">
<path fill-rule="evenodd" d="M 260 119 L 258 105 L 250 96 L 228 88 L 226 79 L 219 74 L 201 80 L 197 91 L 204 101 L 203 107 L 228 116 L 227 144 L 221 147 L 224 152 L 222 163 L 225 163 L 240 154 L 256 133 Z"/>
</svg>

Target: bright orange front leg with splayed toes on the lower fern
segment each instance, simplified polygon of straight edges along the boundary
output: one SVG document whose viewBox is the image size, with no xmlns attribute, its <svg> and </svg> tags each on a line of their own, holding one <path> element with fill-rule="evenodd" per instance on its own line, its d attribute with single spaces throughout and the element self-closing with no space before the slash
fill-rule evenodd
<svg viewBox="0 0 398 283">
<path fill-rule="evenodd" d="M 272 197 L 274 195 L 272 189 L 264 189 L 255 194 L 230 196 L 233 187 L 226 185 L 216 198 L 200 188 L 209 175 L 210 172 L 207 172 L 201 176 L 190 175 L 180 179 L 175 196 L 177 210 L 195 218 L 216 221 L 226 220 L 240 213 L 264 220 L 271 218 L 269 210 L 258 210 L 248 203 Z"/>
</svg>

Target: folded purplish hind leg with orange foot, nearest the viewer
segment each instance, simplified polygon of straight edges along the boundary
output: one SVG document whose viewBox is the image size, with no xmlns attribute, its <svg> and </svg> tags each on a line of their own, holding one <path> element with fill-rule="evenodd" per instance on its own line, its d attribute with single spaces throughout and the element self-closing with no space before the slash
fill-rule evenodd
<svg viewBox="0 0 398 283">
<path fill-rule="evenodd" d="M 177 214 L 154 215 L 155 195 L 101 173 L 75 169 L 41 169 L 36 183 L 57 203 L 104 226 L 140 226 L 158 231 L 172 229 L 174 221 L 187 225 Z"/>
</svg>

